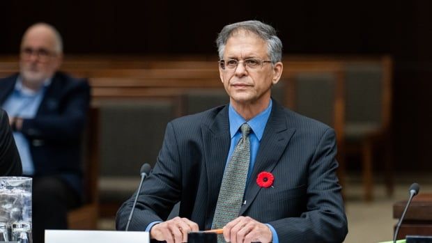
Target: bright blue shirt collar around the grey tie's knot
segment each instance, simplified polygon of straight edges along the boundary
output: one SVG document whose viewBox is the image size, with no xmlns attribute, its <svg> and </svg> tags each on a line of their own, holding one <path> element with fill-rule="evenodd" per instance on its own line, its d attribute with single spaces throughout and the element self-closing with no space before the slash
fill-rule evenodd
<svg viewBox="0 0 432 243">
<path fill-rule="evenodd" d="M 258 115 L 256 115 L 251 120 L 247 121 L 247 124 L 251 127 L 252 131 L 256 135 L 256 137 L 261 141 L 261 138 L 264 134 L 265 125 L 267 124 L 267 120 L 270 117 L 270 112 L 272 111 L 272 100 L 268 104 L 268 107 L 261 111 Z M 246 120 L 240 116 L 237 111 L 229 104 L 228 109 L 229 116 L 229 132 L 231 134 L 231 139 L 234 135 L 236 135 L 238 129 L 243 123 L 246 123 Z"/>
</svg>

